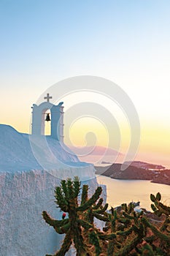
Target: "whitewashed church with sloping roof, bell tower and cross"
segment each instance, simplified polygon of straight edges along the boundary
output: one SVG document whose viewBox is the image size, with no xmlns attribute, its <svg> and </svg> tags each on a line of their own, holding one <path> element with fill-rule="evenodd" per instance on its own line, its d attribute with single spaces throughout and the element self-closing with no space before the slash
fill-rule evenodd
<svg viewBox="0 0 170 256">
<path fill-rule="evenodd" d="M 53 255 L 63 236 L 42 219 L 47 211 L 55 219 L 62 212 L 54 203 L 54 189 L 61 179 L 78 176 L 90 195 L 98 186 L 93 165 L 80 162 L 63 144 L 63 102 L 33 106 L 32 135 L 0 124 L 0 255 Z M 44 135 L 45 111 L 51 113 L 51 136 Z M 48 171 L 47 171 L 48 170 Z M 106 202 L 106 187 L 103 187 Z M 102 228 L 103 223 L 97 222 Z M 71 250 L 68 256 L 74 255 Z"/>
</svg>

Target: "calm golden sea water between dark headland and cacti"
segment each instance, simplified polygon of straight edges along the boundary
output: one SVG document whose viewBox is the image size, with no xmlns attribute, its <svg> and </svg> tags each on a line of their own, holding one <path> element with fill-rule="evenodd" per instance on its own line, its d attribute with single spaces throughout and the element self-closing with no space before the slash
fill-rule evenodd
<svg viewBox="0 0 170 256">
<path fill-rule="evenodd" d="M 118 180 L 106 176 L 97 176 L 98 184 L 107 185 L 107 203 L 109 206 L 120 206 L 122 203 L 140 201 L 140 207 L 150 208 L 150 194 L 161 192 L 162 201 L 170 206 L 170 186 L 155 184 L 150 181 Z"/>
</svg>

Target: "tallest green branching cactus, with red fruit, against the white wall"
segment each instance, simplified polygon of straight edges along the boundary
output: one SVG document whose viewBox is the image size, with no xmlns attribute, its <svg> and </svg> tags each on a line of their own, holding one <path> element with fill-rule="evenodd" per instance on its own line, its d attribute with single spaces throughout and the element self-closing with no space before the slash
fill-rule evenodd
<svg viewBox="0 0 170 256">
<path fill-rule="evenodd" d="M 93 229 L 93 240 L 97 240 L 96 230 L 90 222 L 81 219 L 80 215 L 84 211 L 88 211 L 89 208 L 92 209 L 94 205 L 96 208 L 101 206 L 101 201 L 96 205 L 98 197 L 101 195 L 101 187 L 96 189 L 96 192 L 88 199 L 88 187 L 84 185 L 82 188 L 82 200 L 80 206 L 78 205 L 78 195 L 80 194 L 80 181 L 78 178 L 74 178 L 74 181 L 68 179 L 67 181 L 61 181 L 61 187 L 55 188 L 55 203 L 61 208 L 61 211 L 68 213 L 67 219 L 55 220 L 47 214 L 46 211 L 42 212 L 42 217 L 45 219 L 48 225 L 52 226 L 57 233 L 66 234 L 61 249 L 55 253 L 55 256 L 65 255 L 69 250 L 72 242 L 77 249 L 77 255 L 86 255 L 88 253 L 88 247 L 82 238 L 82 227 L 85 230 L 90 228 Z M 99 250 L 99 242 L 95 242 L 94 245 L 97 246 L 96 250 Z"/>
</svg>

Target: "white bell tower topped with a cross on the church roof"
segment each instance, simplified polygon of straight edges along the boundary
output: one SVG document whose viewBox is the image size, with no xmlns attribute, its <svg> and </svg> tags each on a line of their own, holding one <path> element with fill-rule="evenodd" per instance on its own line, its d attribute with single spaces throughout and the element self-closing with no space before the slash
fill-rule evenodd
<svg viewBox="0 0 170 256">
<path fill-rule="evenodd" d="M 47 99 L 47 102 L 42 102 L 40 105 L 34 104 L 32 107 L 32 135 L 45 135 L 45 121 L 50 121 L 50 136 L 63 142 L 63 102 L 53 105 L 49 94 L 44 99 Z M 47 110 L 50 110 L 50 114 L 47 113 L 45 116 Z"/>
</svg>

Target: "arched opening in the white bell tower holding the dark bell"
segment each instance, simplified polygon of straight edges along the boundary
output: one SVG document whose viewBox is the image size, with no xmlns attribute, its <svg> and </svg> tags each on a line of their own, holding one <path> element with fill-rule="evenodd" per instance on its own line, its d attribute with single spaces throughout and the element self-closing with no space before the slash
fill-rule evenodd
<svg viewBox="0 0 170 256">
<path fill-rule="evenodd" d="M 51 111 L 45 109 L 42 111 L 42 135 L 51 135 Z"/>
</svg>

